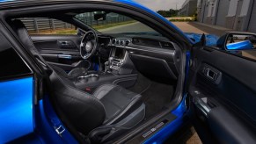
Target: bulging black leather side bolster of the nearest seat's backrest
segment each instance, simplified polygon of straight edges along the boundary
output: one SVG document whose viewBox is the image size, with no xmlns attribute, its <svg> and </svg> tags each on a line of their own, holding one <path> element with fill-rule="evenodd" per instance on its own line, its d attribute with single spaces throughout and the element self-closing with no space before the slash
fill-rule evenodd
<svg viewBox="0 0 256 144">
<path fill-rule="evenodd" d="M 89 93 L 77 90 L 68 83 L 65 77 L 55 72 L 49 77 L 52 83 L 52 92 L 55 106 L 68 118 L 78 132 L 88 134 L 92 129 L 101 126 L 106 119 L 104 104 Z"/>
</svg>

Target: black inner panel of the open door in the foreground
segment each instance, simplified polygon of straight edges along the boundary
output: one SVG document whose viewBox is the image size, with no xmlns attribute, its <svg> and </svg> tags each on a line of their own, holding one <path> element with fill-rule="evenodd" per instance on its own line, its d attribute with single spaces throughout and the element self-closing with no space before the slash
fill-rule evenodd
<svg viewBox="0 0 256 144">
<path fill-rule="evenodd" d="M 209 47 L 194 47 L 192 60 L 188 93 L 201 140 L 255 143 L 256 63 Z"/>
</svg>

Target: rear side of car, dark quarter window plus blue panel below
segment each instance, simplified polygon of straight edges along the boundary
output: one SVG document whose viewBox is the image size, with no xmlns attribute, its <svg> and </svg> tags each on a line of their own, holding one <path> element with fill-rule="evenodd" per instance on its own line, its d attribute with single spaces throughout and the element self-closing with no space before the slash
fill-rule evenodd
<svg viewBox="0 0 256 144">
<path fill-rule="evenodd" d="M 2 28 L 1 25 L 0 143 L 9 143 L 18 142 L 34 132 L 34 88 L 37 81 L 32 69 L 5 38 Z"/>
</svg>

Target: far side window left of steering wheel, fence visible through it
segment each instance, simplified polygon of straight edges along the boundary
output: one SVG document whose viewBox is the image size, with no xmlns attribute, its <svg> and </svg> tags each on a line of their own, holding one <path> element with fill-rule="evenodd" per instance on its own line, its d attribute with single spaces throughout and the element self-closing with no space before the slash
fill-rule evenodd
<svg viewBox="0 0 256 144">
<path fill-rule="evenodd" d="M 77 35 L 74 25 L 54 18 L 19 18 L 29 34 Z"/>
</svg>

